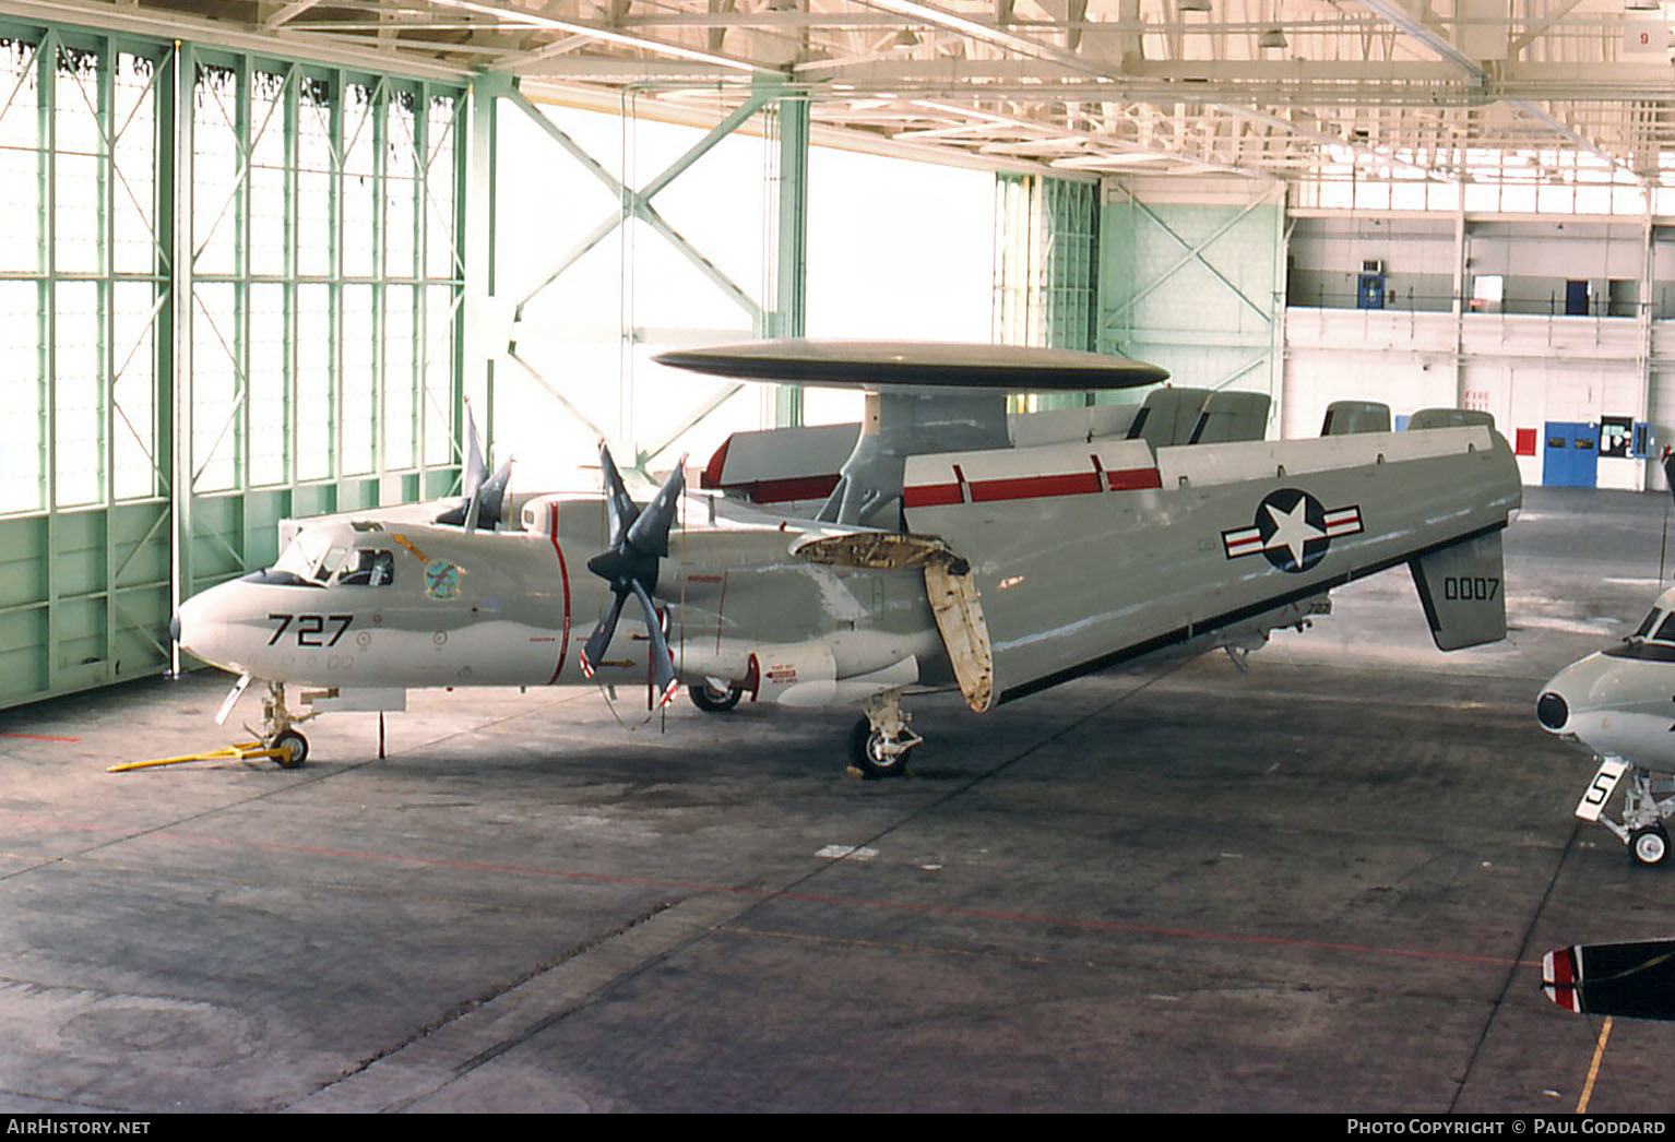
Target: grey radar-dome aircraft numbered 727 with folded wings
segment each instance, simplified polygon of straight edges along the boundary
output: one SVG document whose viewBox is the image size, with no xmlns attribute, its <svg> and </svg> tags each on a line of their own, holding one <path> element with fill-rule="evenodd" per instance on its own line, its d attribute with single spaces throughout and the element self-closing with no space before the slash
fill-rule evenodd
<svg viewBox="0 0 1675 1142">
<path fill-rule="evenodd" d="M 174 616 L 186 651 L 240 675 L 221 717 L 266 682 L 261 740 L 298 765 L 298 723 L 399 710 L 415 687 L 591 678 L 645 683 L 657 707 L 685 685 L 715 713 L 859 707 L 849 760 L 883 777 L 921 742 L 908 693 L 988 712 L 1154 653 L 1243 661 L 1327 613 L 1332 588 L 1402 563 L 1439 648 L 1506 633 L 1501 529 L 1521 491 L 1486 414 L 1390 432 L 1389 409 L 1348 402 L 1318 439 L 1265 440 L 1260 394 L 1008 415 L 1008 394 L 1166 378 L 1094 353 L 789 340 L 660 360 L 861 388 L 866 417 L 737 434 L 704 491 L 677 467 L 645 507 L 601 445 L 603 494 L 502 494 L 489 512 L 467 481 L 446 522 L 305 521 L 271 568 Z"/>
</svg>

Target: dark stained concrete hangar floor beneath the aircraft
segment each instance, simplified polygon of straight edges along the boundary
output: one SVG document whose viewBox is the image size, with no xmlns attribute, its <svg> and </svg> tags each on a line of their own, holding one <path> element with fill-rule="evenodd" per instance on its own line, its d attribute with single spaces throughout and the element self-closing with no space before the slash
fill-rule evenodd
<svg viewBox="0 0 1675 1142">
<path fill-rule="evenodd" d="M 1647 610 L 1665 504 L 1531 491 L 1497 646 L 1399 569 L 1250 673 L 923 700 L 896 782 L 853 713 L 581 690 L 295 772 L 104 772 L 224 740 L 214 671 L 0 712 L 0 1112 L 1571 1112 L 1600 1026 L 1541 953 L 1675 934 L 1675 869 L 1574 822 L 1533 702 Z M 1616 1021 L 1590 1109 L 1665 1110 L 1672 1050 Z"/>
</svg>

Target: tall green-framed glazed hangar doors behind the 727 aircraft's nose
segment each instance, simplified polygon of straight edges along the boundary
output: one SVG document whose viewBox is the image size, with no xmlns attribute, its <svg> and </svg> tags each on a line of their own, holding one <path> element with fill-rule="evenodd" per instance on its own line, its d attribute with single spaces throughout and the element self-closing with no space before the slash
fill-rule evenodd
<svg viewBox="0 0 1675 1142">
<path fill-rule="evenodd" d="M 457 484 L 464 87 L 0 20 L 0 707 Z"/>
</svg>

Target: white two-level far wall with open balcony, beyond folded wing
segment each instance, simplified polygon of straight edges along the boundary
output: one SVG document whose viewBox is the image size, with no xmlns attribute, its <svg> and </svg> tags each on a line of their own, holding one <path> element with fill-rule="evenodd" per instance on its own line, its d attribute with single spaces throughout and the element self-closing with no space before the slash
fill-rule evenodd
<svg viewBox="0 0 1675 1142">
<path fill-rule="evenodd" d="M 1548 424 L 1647 424 L 1675 444 L 1675 256 L 1655 218 L 1300 211 L 1288 244 L 1288 435 L 1370 397 L 1492 412 L 1526 484 Z M 1367 290 L 1370 270 L 1380 285 Z M 1519 440 L 1523 430 L 1523 440 Z M 1600 487 L 1662 487 L 1657 464 L 1600 455 Z"/>
</svg>

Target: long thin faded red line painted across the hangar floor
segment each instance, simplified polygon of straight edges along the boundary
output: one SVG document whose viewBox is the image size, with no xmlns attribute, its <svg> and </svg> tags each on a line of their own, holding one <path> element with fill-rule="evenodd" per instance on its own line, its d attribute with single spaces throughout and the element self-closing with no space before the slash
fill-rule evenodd
<svg viewBox="0 0 1675 1142">
<path fill-rule="evenodd" d="M 64 820 L 49 820 L 22 814 L 0 814 L 8 820 L 30 824 L 97 831 L 99 826 L 80 826 Z M 1129 936 L 1159 936 L 1166 939 L 1203 939 L 1226 944 L 1256 944 L 1265 948 L 1296 948 L 1301 951 L 1333 951 L 1352 956 L 1380 956 L 1395 959 L 1430 959 L 1437 963 L 1469 963 L 1489 968 L 1539 968 L 1539 959 L 1508 959 L 1506 956 L 1481 956 L 1464 951 L 1432 951 L 1424 948 L 1394 948 L 1379 944 L 1337 943 L 1328 939 L 1306 939 L 1301 936 L 1263 936 L 1258 933 L 1224 933 L 1201 928 L 1167 928 L 1161 924 L 1137 924 L 1116 919 L 1092 919 L 1085 916 L 1052 916 L 1038 913 L 1005 913 L 980 908 L 958 908 L 951 904 L 921 904 L 913 901 L 868 899 L 859 896 L 829 896 L 824 893 L 789 893 L 769 887 L 739 887 L 732 884 L 705 884 L 702 881 L 665 881 L 640 876 L 613 876 L 610 872 L 568 872 L 564 869 L 544 869 L 524 864 L 491 864 L 482 861 L 449 861 L 441 857 L 405 856 L 400 852 L 372 852 L 360 849 L 325 849 L 302 844 L 276 844 L 266 841 L 250 841 L 248 837 L 209 837 L 203 834 L 173 832 L 161 829 L 156 832 L 136 834 L 131 829 L 112 829 L 121 836 L 146 836 L 152 839 L 183 841 L 188 844 L 243 846 L 261 852 L 288 852 L 295 856 L 330 857 L 333 861 L 363 861 L 370 864 L 409 864 L 414 867 L 454 869 L 462 872 L 496 872 L 504 876 L 534 876 L 546 879 L 571 881 L 576 884 L 616 884 L 630 887 L 677 889 L 683 893 L 705 893 L 714 896 L 742 896 L 762 901 L 792 901 L 799 904 L 832 904 L 839 908 L 918 913 L 921 916 L 950 916 L 956 919 L 993 919 L 1008 924 L 1079 928 L 1084 931 L 1124 933 Z"/>
</svg>

